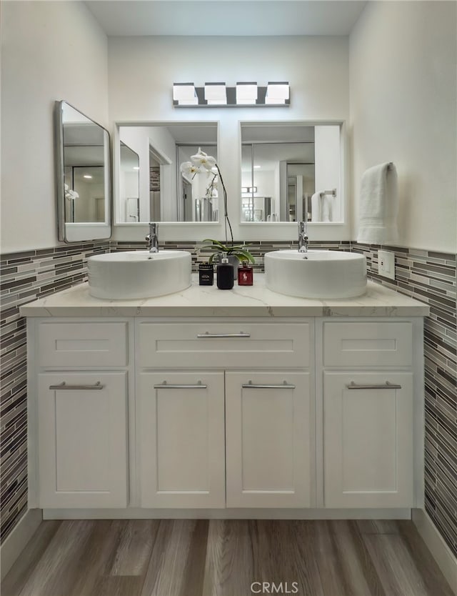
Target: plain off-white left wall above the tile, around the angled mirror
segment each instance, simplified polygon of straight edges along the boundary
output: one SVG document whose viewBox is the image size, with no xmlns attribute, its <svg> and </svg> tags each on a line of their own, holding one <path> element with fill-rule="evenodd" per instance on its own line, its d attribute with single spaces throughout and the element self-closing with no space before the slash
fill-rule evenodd
<svg viewBox="0 0 457 596">
<path fill-rule="evenodd" d="M 106 35 L 81 2 L 1 2 L 1 250 L 58 244 L 54 101 L 108 126 Z"/>
</svg>

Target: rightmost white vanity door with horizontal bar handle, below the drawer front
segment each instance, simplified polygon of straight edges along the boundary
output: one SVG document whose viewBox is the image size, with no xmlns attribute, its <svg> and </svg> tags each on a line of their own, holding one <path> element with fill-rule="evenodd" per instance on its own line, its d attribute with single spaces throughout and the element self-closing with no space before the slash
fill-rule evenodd
<svg viewBox="0 0 457 596">
<path fill-rule="evenodd" d="M 325 372 L 323 390 L 326 507 L 412 507 L 413 375 Z"/>
</svg>

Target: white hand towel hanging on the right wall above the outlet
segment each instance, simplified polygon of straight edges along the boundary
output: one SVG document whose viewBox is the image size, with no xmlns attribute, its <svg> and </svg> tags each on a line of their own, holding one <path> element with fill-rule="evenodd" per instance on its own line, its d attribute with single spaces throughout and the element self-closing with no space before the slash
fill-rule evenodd
<svg viewBox="0 0 457 596">
<path fill-rule="evenodd" d="M 361 181 L 357 242 L 395 244 L 397 212 L 396 167 L 386 163 L 367 169 Z"/>
</svg>

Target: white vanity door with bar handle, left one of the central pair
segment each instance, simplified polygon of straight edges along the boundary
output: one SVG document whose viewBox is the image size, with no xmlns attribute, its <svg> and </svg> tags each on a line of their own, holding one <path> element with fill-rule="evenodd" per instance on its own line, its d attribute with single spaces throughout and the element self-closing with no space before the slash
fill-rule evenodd
<svg viewBox="0 0 457 596">
<path fill-rule="evenodd" d="M 225 507 L 223 372 L 142 372 L 141 507 Z"/>
</svg>

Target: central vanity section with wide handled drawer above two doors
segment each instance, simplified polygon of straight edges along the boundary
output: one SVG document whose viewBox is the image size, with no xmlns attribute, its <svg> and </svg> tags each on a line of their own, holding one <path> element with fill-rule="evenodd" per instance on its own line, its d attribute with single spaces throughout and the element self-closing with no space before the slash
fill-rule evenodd
<svg viewBox="0 0 457 596">
<path fill-rule="evenodd" d="M 311 506 L 312 329 L 137 323 L 141 507 Z"/>
</svg>

